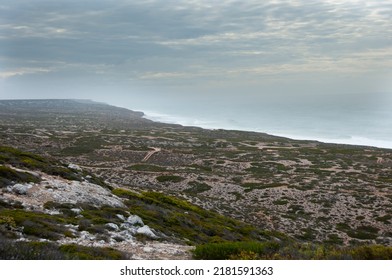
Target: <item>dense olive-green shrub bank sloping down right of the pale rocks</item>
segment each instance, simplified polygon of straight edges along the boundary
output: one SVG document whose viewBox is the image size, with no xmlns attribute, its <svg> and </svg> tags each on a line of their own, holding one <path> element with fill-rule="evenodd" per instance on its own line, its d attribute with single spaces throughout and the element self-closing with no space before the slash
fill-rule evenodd
<svg viewBox="0 0 392 280">
<path fill-rule="evenodd" d="M 274 235 L 162 193 L 136 194 L 125 189 L 115 189 L 113 193 L 126 198 L 130 212 L 140 216 L 146 224 L 179 242 L 253 241 L 269 239 Z"/>
</svg>

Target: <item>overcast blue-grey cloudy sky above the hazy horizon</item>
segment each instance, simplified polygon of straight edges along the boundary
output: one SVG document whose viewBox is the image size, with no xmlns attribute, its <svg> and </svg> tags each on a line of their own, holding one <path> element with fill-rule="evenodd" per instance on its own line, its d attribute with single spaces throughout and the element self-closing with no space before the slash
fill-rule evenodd
<svg viewBox="0 0 392 280">
<path fill-rule="evenodd" d="M 392 0 L 1 0 L 0 98 L 378 98 L 391 15 Z"/>
</svg>

